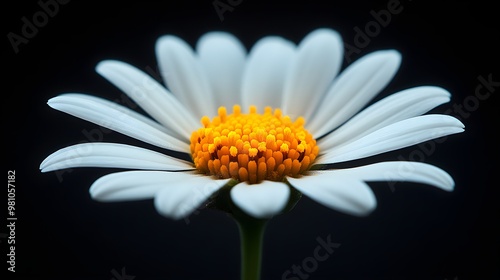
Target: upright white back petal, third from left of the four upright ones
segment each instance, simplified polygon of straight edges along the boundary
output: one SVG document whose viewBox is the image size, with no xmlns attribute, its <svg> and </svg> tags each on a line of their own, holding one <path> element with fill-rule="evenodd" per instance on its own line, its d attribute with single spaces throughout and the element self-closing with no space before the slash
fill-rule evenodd
<svg viewBox="0 0 500 280">
<path fill-rule="evenodd" d="M 281 106 L 285 73 L 294 49 L 293 43 L 280 37 L 265 37 L 255 44 L 243 74 L 243 110 L 250 105 L 261 112 L 266 106 Z"/>
</svg>

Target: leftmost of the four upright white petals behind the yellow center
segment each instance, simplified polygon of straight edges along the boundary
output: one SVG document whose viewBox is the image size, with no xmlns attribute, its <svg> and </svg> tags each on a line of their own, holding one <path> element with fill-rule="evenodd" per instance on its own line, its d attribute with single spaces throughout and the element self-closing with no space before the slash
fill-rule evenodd
<svg viewBox="0 0 500 280">
<path fill-rule="evenodd" d="M 162 36 L 156 42 L 156 56 L 168 88 L 196 118 L 217 114 L 208 78 L 186 42 Z"/>
</svg>

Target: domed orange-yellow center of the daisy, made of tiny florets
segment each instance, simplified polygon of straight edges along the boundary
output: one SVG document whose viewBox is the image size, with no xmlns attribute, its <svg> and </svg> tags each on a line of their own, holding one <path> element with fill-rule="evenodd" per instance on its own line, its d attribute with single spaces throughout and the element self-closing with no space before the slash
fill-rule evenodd
<svg viewBox="0 0 500 280">
<path fill-rule="evenodd" d="M 304 118 L 294 122 L 280 109 L 266 107 L 258 114 L 241 113 L 238 105 L 227 115 L 220 107 L 211 121 L 201 118 L 203 127 L 191 135 L 193 162 L 201 173 L 240 182 L 282 181 L 307 171 L 318 155 L 316 140 L 304 129 Z"/>
</svg>

